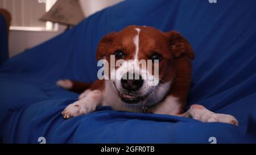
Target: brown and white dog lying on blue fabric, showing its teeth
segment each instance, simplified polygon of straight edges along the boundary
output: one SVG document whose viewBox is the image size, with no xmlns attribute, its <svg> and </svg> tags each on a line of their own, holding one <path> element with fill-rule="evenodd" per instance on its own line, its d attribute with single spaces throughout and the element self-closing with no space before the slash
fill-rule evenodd
<svg viewBox="0 0 256 155">
<path fill-rule="evenodd" d="M 96 52 L 97 60 L 105 59 L 110 62 L 110 56 L 113 55 L 115 61 L 122 59 L 126 63 L 132 60 L 129 68 L 141 68 L 137 63 L 139 60 L 158 60 L 159 82 L 155 86 L 148 85 L 148 79 L 143 78 L 141 72 L 136 73 L 135 69 L 127 69 L 125 65 L 109 69 L 110 73 L 126 70 L 127 72 L 121 72 L 119 79 L 102 79 L 92 85 L 68 79 L 60 80 L 57 86 L 77 92 L 84 91 L 77 102 L 70 104 L 62 112 L 65 119 L 93 112 L 97 106 L 110 106 L 114 110 L 177 115 L 201 122 L 238 125 L 232 115 L 215 114 L 198 104 L 184 112 L 194 53 L 180 33 L 129 26 L 121 32 L 110 33 L 100 41 Z M 144 72 L 147 76 L 153 76 L 153 72 Z M 139 79 L 122 78 L 127 74 L 139 74 Z"/>
</svg>

